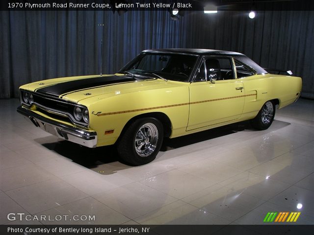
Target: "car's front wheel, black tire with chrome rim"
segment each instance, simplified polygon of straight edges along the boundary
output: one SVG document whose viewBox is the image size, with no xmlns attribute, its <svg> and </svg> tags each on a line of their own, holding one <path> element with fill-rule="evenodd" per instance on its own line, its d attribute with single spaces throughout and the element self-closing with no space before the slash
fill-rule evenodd
<svg viewBox="0 0 314 235">
<path fill-rule="evenodd" d="M 132 165 L 152 162 L 160 150 L 163 126 L 156 118 L 139 118 L 131 123 L 117 143 L 122 160 Z"/>
</svg>

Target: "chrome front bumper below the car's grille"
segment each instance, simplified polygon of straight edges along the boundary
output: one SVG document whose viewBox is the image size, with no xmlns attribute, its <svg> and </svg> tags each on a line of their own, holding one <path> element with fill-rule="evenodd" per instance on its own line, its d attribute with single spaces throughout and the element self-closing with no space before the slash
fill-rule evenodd
<svg viewBox="0 0 314 235">
<path fill-rule="evenodd" d="M 35 126 L 40 127 L 58 138 L 78 143 L 89 148 L 96 147 L 97 133 L 95 131 L 87 131 L 42 117 L 23 106 L 19 106 L 17 112 L 24 115 L 25 118 L 30 120 Z"/>
</svg>

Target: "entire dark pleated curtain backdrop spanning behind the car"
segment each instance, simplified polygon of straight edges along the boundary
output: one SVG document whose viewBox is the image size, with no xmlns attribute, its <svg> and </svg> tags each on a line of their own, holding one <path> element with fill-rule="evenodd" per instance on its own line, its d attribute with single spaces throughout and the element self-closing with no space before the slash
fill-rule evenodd
<svg viewBox="0 0 314 235">
<path fill-rule="evenodd" d="M 102 25 L 104 24 L 104 25 Z M 18 87 L 61 76 L 113 73 L 147 48 L 233 50 L 262 67 L 303 78 L 303 96 L 314 98 L 314 12 L 191 12 L 172 21 L 165 11 L 0 12 L 0 98 Z"/>
</svg>

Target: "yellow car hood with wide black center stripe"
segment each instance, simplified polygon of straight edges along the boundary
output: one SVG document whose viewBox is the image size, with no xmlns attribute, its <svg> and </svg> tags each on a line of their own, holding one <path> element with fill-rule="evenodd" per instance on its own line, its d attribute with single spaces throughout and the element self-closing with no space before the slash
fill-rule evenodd
<svg viewBox="0 0 314 235">
<path fill-rule="evenodd" d="M 79 102 L 83 99 L 100 95 L 102 95 L 100 98 L 105 98 L 116 94 L 172 86 L 178 86 L 178 82 L 166 82 L 162 79 L 152 77 L 137 80 L 131 76 L 114 74 L 54 78 L 30 83 L 21 88 L 34 91 L 38 94 L 46 94 L 72 102 Z"/>
</svg>

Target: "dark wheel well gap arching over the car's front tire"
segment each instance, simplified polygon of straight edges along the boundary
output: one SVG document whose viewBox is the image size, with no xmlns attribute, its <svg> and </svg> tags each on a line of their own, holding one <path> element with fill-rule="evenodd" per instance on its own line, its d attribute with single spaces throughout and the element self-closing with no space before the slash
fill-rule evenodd
<svg viewBox="0 0 314 235">
<path fill-rule="evenodd" d="M 126 131 L 126 129 L 130 126 L 130 124 L 138 119 L 138 118 L 156 118 L 158 119 L 162 126 L 163 126 L 163 134 L 165 137 L 169 137 L 171 135 L 171 121 L 170 119 L 168 118 L 167 115 L 165 115 L 164 113 L 160 113 L 160 112 L 152 112 L 152 113 L 146 113 L 146 114 L 141 114 L 141 115 L 138 115 L 138 116 L 135 116 L 133 118 L 131 118 L 127 124 L 125 124 L 125 126 L 123 127 L 122 129 L 122 132 L 121 132 L 121 135 Z M 120 136 L 121 136 L 120 135 Z"/>
</svg>

